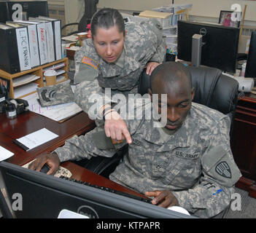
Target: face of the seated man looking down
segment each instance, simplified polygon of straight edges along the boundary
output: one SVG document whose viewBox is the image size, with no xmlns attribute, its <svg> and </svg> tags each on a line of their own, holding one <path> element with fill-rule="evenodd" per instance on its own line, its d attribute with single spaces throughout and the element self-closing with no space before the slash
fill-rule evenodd
<svg viewBox="0 0 256 233">
<path fill-rule="evenodd" d="M 167 108 L 166 128 L 173 131 L 179 129 L 190 111 L 194 90 L 182 82 L 171 84 L 171 87 L 159 82 L 154 92 L 167 94 L 167 103 L 163 103 L 161 96 L 158 95 L 158 113 L 160 114 L 163 108 Z"/>
</svg>

